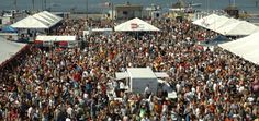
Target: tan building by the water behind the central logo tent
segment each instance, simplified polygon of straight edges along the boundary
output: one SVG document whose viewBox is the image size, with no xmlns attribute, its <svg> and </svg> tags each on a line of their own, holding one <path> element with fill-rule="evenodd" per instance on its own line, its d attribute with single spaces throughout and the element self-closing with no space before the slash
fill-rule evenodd
<svg viewBox="0 0 259 121">
<path fill-rule="evenodd" d="M 143 5 L 138 4 L 119 4 L 115 5 L 115 19 L 130 20 L 134 17 L 143 17 Z"/>
</svg>

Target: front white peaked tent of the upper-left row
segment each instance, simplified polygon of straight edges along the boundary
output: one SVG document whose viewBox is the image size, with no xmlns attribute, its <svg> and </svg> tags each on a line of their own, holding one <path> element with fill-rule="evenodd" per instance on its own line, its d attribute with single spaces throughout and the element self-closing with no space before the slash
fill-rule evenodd
<svg viewBox="0 0 259 121">
<path fill-rule="evenodd" d="M 47 24 L 44 24 L 42 21 L 31 15 L 12 24 L 11 26 L 14 28 L 49 28 Z"/>
</svg>

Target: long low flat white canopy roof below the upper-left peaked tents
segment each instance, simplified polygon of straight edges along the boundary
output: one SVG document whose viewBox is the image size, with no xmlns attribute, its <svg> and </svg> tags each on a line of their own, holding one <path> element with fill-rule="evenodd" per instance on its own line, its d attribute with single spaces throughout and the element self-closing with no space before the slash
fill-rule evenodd
<svg viewBox="0 0 259 121">
<path fill-rule="evenodd" d="M 37 36 L 36 41 L 75 41 L 76 36 Z"/>
</svg>

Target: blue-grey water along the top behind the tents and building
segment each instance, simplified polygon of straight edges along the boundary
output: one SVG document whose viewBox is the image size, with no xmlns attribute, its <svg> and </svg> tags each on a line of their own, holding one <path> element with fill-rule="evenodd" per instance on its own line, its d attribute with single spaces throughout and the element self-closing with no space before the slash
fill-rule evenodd
<svg viewBox="0 0 259 121">
<path fill-rule="evenodd" d="M 16 9 L 19 10 L 32 10 L 33 0 L 16 0 Z M 122 4 L 130 1 L 132 4 L 150 5 L 157 4 L 162 8 L 169 8 L 170 4 L 176 3 L 178 0 L 46 0 L 46 8 L 50 11 L 86 11 L 87 2 L 89 3 L 89 12 L 103 12 L 108 8 L 103 8 L 102 3 L 113 2 L 114 4 Z M 229 4 L 229 0 L 185 0 L 187 2 L 193 1 L 194 3 L 202 3 L 199 9 L 202 10 L 215 10 L 224 9 Z M 259 14 L 259 7 L 256 7 L 256 1 L 259 0 L 236 0 L 236 5 L 248 13 Z M 15 9 L 14 0 L 0 0 L 0 10 Z M 34 0 L 34 10 L 42 10 L 45 4 L 44 0 Z M 258 3 L 259 4 L 259 3 Z"/>
</svg>

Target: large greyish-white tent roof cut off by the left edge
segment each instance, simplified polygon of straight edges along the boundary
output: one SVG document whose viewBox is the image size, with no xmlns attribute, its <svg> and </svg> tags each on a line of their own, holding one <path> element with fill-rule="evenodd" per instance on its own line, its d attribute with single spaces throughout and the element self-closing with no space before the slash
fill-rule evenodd
<svg viewBox="0 0 259 121">
<path fill-rule="evenodd" d="M 4 61 L 9 60 L 26 45 L 9 41 L 0 37 L 0 64 L 2 64 Z"/>
</svg>

